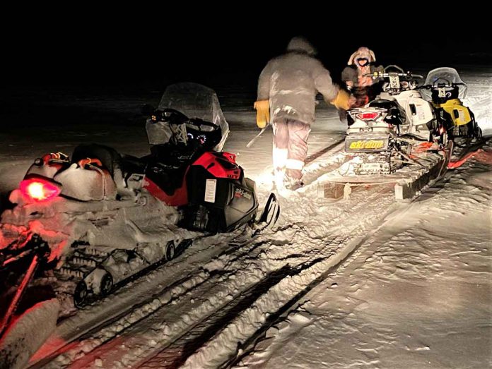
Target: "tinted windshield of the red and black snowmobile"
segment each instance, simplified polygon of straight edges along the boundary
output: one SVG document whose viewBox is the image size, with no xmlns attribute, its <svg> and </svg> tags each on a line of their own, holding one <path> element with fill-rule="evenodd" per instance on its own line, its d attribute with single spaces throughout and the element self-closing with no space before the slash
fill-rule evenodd
<svg viewBox="0 0 492 369">
<path fill-rule="evenodd" d="M 229 125 L 225 121 L 217 94 L 211 88 L 199 85 L 198 83 L 177 83 L 170 85 L 165 89 L 158 106 L 158 110 L 164 109 L 175 109 L 185 114 L 189 119 L 201 119 L 219 126 L 222 131 L 222 138 L 213 147 L 213 150 L 222 150 L 229 133 Z M 203 129 L 213 131 L 214 128 L 204 126 Z M 166 143 L 170 139 L 170 132 L 166 129 L 160 132 L 147 131 L 151 144 Z M 166 134 L 167 132 L 168 134 Z"/>
</svg>

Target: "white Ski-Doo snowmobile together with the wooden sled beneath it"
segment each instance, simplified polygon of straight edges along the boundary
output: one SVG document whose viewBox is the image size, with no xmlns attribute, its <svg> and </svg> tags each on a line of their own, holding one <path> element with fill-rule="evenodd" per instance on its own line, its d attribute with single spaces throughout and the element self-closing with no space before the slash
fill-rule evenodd
<svg viewBox="0 0 492 369">
<path fill-rule="evenodd" d="M 398 66 L 368 74 L 382 92 L 364 107 L 348 109 L 344 164 L 325 176 L 324 197 L 341 195 L 343 186 L 395 184 L 397 199 L 410 198 L 430 179 L 444 173 L 452 147 L 430 143 L 433 107 L 416 90 L 416 78 Z M 333 186 L 336 183 L 336 186 Z"/>
</svg>

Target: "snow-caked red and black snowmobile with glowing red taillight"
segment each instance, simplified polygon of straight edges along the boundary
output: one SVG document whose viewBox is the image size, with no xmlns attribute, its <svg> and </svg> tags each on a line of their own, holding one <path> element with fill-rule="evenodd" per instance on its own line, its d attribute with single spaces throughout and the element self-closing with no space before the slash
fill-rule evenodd
<svg viewBox="0 0 492 369">
<path fill-rule="evenodd" d="M 197 237 L 247 224 L 259 231 L 278 219 L 273 193 L 257 219 L 254 181 L 235 155 L 221 151 L 228 123 L 213 90 L 170 85 L 158 108 L 146 111 L 149 155 L 79 145 L 71 157 L 35 159 L 12 191 L 15 206 L 1 214 L 0 272 L 10 276 L 23 261 L 28 271 L 8 289 L 14 296 L 0 335 L 38 267 L 69 283 L 81 307 L 174 258 Z"/>
</svg>

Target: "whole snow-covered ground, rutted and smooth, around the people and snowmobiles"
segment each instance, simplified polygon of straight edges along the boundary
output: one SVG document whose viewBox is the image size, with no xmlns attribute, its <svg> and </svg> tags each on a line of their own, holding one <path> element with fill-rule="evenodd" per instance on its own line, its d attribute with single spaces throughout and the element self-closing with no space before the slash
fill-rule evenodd
<svg viewBox="0 0 492 369">
<path fill-rule="evenodd" d="M 462 78 L 469 83 L 465 103 L 484 133 L 492 133 L 492 71 L 466 69 Z M 219 99 L 230 102 L 223 104 L 231 131 L 225 150 L 238 154 L 264 202 L 271 186 L 271 132 L 247 149 L 257 133 L 254 111 L 241 97 L 228 98 L 238 92 L 219 92 Z M 60 96 L 42 99 L 52 111 L 59 105 L 95 115 L 84 124 L 80 116 L 58 116 L 62 129 L 11 121 L 0 132 L 0 193 L 14 188 L 33 158 L 45 152 L 70 153 L 86 142 L 136 156 L 148 152 L 136 110 L 148 99 L 156 104 L 158 92 Z M 98 111 L 110 111 L 110 118 Z M 320 104 L 310 135 L 315 158 L 307 165 L 310 174 L 336 163 L 331 152 L 316 153 L 338 142 L 344 128 L 336 111 Z M 490 150 L 488 143 L 485 152 L 415 202 L 395 203 L 387 186 L 356 190 L 350 200 L 338 202 L 319 198 L 315 182 L 281 193 L 282 215 L 274 231 L 252 242 L 245 235 L 219 235 L 194 243 L 115 296 L 61 321 L 32 363 L 489 366 Z M 53 361 L 43 361 L 57 349 Z"/>
</svg>

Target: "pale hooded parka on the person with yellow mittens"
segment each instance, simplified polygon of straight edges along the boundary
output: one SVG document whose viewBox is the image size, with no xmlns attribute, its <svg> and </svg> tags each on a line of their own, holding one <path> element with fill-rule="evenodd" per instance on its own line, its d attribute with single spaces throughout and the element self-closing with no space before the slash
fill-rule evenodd
<svg viewBox="0 0 492 369">
<path fill-rule="evenodd" d="M 271 59 L 259 75 L 258 100 L 270 101 L 271 121 L 315 121 L 316 94 L 331 101 L 339 87 L 315 57 L 315 49 L 302 37 L 289 42 L 287 52 Z"/>
</svg>

